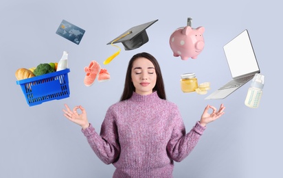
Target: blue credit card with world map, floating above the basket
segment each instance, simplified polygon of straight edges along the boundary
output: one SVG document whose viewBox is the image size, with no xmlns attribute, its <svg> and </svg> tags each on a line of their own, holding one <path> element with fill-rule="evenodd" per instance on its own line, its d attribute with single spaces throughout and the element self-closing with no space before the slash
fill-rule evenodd
<svg viewBox="0 0 283 178">
<path fill-rule="evenodd" d="M 66 38 L 67 40 L 70 40 L 71 42 L 80 44 L 82 36 L 84 36 L 84 32 L 84 29 L 81 29 L 80 27 L 63 20 L 60 23 L 56 34 Z"/>
</svg>

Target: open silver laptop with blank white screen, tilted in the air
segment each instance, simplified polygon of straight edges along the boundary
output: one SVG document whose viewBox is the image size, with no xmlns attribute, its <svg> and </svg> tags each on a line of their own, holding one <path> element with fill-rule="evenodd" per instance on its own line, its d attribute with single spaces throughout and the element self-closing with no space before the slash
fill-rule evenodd
<svg viewBox="0 0 283 178">
<path fill-rule="evenodd" d="M 223 49 L 232 79 L 205 99 L 225 99 L 229 94 L 253 79 L 256 73 L 260 73 L 247 29 L 225 44 Z"/>
</svg>

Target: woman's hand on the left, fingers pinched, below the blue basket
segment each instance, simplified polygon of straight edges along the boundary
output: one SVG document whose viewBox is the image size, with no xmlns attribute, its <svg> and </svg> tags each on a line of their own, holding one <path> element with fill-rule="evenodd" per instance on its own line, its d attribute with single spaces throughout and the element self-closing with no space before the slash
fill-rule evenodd
<svg viewBox="0 0 283 178">
<path fill-rule="evenodd" d="M 73 107 L 73 110 L 70 110 L 67 104 L 64 104 L 66 110 L 63 109 L 64 116 L 71 120 L 73 123 L 76 123 L 82 127 L 82 129 L 86 129 L 89 127 L 89 121 L 87 120 L 87 112 L 84 110 L 84 107 L 81 105 Z M 78 114 L 77 110 L 81 110 L 81 113 Z"/>
</svg>

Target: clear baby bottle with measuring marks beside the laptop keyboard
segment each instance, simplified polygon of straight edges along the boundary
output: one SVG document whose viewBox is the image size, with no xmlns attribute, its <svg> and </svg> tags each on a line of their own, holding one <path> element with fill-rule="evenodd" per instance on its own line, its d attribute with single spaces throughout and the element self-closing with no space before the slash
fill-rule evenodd
<svg viewBox="0 0 283 178">
<path fill-rule="evenodd" d="M 264 75 L 260 75 L 257 73 L 251 81 L 251 86 L 247 92 L 245 105 L 251 108 L 257 108 L 260 105 L 263 86 L 264 86 Z"/>
</svg>

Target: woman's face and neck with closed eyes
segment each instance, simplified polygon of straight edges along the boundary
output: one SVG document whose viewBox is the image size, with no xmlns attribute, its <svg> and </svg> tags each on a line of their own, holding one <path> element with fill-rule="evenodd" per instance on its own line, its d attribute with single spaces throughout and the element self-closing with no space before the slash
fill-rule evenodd
<svg viewBox="0 0 283 178">
<path fill-rule="evenodd" d="M 137 58 L 133 62 L 131 77 L 137 94 L 146 95 L 152 93 L 157 75 L 155 73 L 155 66 L 150 60 Z"/>
</svg>

